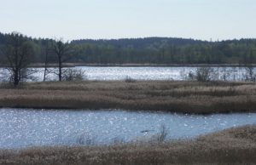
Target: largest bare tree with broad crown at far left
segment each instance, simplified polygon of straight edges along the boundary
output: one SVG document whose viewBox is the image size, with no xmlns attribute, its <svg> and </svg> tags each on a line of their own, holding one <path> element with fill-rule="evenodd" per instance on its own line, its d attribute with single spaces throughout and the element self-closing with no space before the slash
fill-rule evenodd
<svg viewBox="0 0 256 165">
<path fill-rule="evenodd" d="M 9 80 L 15 87 L 21 81 L 31 78 L 32 73 L 34 73 L 27 69 L 32 60 L 33 52 L 32 43 L 26 37 L 18 32 L 10 34 L 9 41 L 3 48 L 3 54 L 6 57 Z"/>
</svg>

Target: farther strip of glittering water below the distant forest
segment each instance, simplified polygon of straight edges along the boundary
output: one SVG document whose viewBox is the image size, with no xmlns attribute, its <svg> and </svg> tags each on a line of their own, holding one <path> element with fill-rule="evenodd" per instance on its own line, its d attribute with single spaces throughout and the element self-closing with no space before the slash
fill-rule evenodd
<svg viewBox="0 0 256 165">
<path fill-rule="evenodd" d="M 55 68 L 50 70 L 57 71 Z M 135 80 L 185 80 L 189 71 L 196 71 L 196 67 L 99 67 L 99 66 L 79 66 L 73 67 L 73 70 L 84 72 L 84 78 L 87 80 L 125 80 L 131 77 Z M 237 81 L 246 76 L 246 70 L 241 67 L 212 67 L 216 72 L 216 79 L 223 79 L 224 75 L 227 80 Z M 33 74 L 37 81 L 43 81 L 44 69 L 37 68 L 38 72 Z M 254 71 L 256 69 L 254 68 Z M 6 71 L 1 71 L 6 72 Z M 0 72 L 0 73 L 1 73 Z M 4 76 L 0 75 L 4 78 Z M 57 80 L 54 73 L 49 73 L 48 80 Z"/>
</svg>

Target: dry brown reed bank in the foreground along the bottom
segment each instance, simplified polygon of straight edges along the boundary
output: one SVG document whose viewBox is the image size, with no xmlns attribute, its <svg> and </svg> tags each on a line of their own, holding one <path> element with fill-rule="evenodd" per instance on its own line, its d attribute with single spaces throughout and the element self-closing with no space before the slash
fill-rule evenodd
<svg viewBox="0 0 256 165">
<path fill-rule="evenodd" d="M 255 164 L 256 126 L 189 141 L 0 151 L 0 164 Z"/>
</svg>

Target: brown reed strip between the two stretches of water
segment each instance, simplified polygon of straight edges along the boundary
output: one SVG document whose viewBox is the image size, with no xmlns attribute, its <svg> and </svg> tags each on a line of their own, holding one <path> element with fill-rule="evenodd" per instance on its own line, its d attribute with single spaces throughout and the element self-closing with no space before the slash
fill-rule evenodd
<svg viewBox="0 0 256 165">
<path fill-rule="evenodd" d="M 183 113 L 256 111 L 255 83 L 80 82 L 0 87 L 1 107 L 125 109 Z"/>
</svg>

